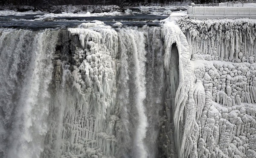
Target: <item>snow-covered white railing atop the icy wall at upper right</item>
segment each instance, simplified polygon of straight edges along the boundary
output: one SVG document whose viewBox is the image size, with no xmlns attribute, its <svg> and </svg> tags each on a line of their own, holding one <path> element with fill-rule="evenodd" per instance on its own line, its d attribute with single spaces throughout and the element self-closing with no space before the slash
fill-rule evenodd
<svg viewBox="0 0 256 158">
<path fill-rule="evenodd" d="M 190 15 L 256 15 L 256 7 L 189 7 Z"/>
</svg>

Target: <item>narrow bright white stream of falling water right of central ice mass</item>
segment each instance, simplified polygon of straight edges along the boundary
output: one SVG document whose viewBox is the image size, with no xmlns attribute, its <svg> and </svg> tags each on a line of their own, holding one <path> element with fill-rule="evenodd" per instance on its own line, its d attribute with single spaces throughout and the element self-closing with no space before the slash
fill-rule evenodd
<svg viewBox="0 0 256 158">
<path fill-rule="evenodd" d="M 135 34 L 132 34 L 135 35 Z M 147 117 L 145 115 L 145 107 L 143 104 L 144 99 L 146 98 L 145 90 L 145 44 L 143 33 L 140 32 L 137 39 L 134 39 L 136 36 L 131 36 L 132 45 L 134 48 L 134 69 L 135 69 L 135 85 L 137 88 L 136 96 L 136 107 L 138 110 L 138 127 L 136 135 L 134 138 L 135 142 L 135 153 L 137 153 L 138 158 L 147 158 L 148 153 L 146 152 L 146 147 L 144 144 L 144 138 L 146 136 L 146 131 L 148 127 Z"/>
</svg>

